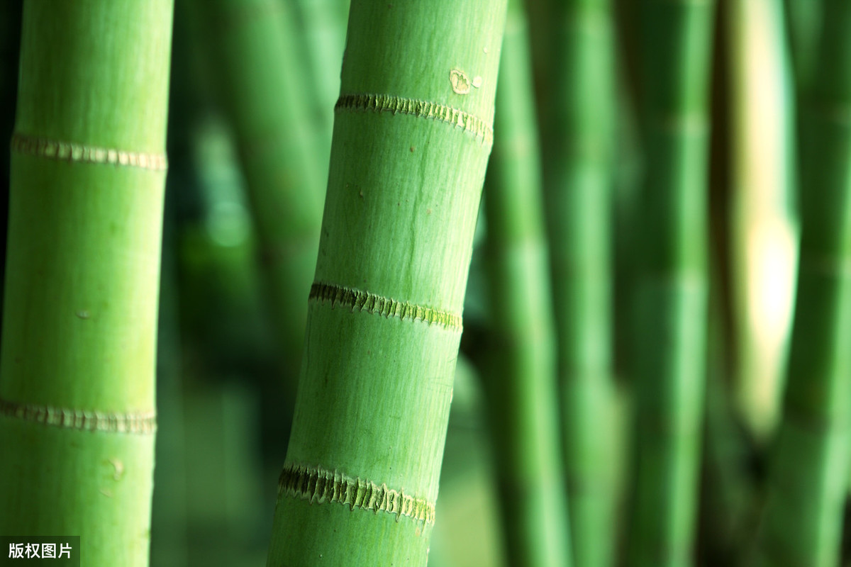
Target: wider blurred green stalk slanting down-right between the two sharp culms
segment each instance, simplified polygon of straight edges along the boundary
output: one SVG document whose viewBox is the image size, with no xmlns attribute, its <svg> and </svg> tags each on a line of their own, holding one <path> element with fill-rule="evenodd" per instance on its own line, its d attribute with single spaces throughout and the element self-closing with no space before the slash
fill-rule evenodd
<svg viewBox="0 0 851 567">
<path fill-rule="evenodd" d="M 263 247 L 268 296 L 293 377 L 300 367 L 322 220 L 323 170 L 295 54 L 292 9 L 280 0 L 195 0 L 226 114 L 237 136 Z M 293 394 L 290 392 L 290 394 Z"/>
</svg>

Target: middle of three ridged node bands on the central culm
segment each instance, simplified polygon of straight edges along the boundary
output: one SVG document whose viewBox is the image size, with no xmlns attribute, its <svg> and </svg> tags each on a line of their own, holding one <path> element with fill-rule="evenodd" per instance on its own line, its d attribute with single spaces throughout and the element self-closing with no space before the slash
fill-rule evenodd
<svg viewBox="0 0 851 567">
<path fill-rule="evenodd" d="M 311 286 L 310 300 L 330 303 L 332 309 L 336 305 L 341 305 L 351 308 L 352 311 L 366 311 L 387 318 L 398 317 L 401 320 L 420 320 L 429 325 L 439 325 L 453 331 L 460 331 L 462 328 L 460 314 L 385 298 L 352 287 L 316 282 Z"/>
</svg>

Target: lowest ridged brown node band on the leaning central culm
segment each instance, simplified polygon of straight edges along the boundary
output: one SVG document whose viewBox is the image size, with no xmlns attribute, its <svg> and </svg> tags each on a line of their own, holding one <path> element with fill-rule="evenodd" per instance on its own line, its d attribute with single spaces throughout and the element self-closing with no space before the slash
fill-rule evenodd
<svg viewBox="0 0 851 567">
<path fill-rule="evenodd" d="M 403 516 L 426 524 L 434 524 L 434 503 L 378 485 L 371 480 L 352 478 L 339 471 L 321 467 L 286 465 L 277 483 L 280 496 L 291 496 L 323 504 L 326 502 L 348 506 L 350 511 L 361 508 L 374 513 L 385 512 Z"/>
</svg>

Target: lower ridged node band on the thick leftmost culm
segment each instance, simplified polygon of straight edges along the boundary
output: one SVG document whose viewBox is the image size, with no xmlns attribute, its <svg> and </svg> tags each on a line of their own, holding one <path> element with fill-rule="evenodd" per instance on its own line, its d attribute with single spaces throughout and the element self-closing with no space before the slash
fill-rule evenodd
<svg viewBox="0 0 851 567">
<path fill-rule="evenodd" d="M 147 435 L 157 430 L 155 411 L 114 413 L 72 410 L 50 405 L 19 404 L 0 398 L 0 416 L 79 431 Z"/>
</svg>

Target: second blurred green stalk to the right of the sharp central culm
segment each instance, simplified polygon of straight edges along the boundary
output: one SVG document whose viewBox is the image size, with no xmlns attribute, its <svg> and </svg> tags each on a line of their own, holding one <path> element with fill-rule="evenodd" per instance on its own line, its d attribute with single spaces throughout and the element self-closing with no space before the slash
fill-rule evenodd
<svg viewBox="0 0 851 567">
<path fill-rule="evenodd" d="M 613 24 L 608 0 L 547 2 L 536 35 L 543 173 L 562 388 L 565 469 L 579 567 L 612 562 L 610 163 Z M 542 72 L 541 72 L 542 70 Z"/>
</svg>

